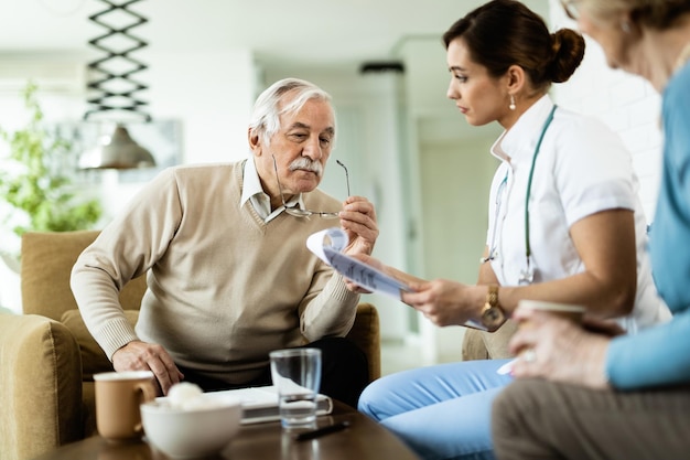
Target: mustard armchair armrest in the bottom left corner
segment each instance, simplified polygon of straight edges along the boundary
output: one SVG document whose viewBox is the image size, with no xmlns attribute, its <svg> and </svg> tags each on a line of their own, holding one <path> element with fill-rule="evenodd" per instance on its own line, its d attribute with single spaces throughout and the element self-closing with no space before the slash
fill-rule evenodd
<svg viewBox="0 0 690 460">
<path fill-rule="evenodd" d="M 3 459 L 34 458 L 83 437 L 82 359 L 62 323 L 0 314 L 0 410 Z"/>
</svg>

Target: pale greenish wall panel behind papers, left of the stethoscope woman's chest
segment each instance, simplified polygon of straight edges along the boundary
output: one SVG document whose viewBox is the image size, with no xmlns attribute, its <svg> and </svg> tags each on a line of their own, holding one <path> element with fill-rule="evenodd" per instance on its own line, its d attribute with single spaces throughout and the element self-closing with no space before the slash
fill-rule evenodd
<svg viewBox="0 0 690 460">
<path fill-rule="evenodd" d="M 460 116 L 457 117 L 460 118 Z M 464 122 L 457 119 L 456 122 Z M 488 151 L 494 136 L 422 147 L 427 276 L 474 285 L 486 242 L 488 184 L 498 161 Z M 434 327 L 432 361 L 461 359 L 465 328 Z"/>
</svg>

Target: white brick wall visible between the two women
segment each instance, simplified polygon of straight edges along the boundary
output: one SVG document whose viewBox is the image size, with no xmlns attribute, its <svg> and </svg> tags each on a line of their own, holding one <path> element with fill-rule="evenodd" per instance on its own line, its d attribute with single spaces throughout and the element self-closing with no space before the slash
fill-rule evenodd
<svg viewBox="0 0 690 460">
<path fill-rule="evenodd" d="M 551 11 L 553 30 L 573 26 L 560 7 Z M 622 137 L 633 156 L 640 200 L 651 222 L 661 164 L 660 97 L 643 78 L 611 69 L 599 44 L 585 40 L 583 63 L 569 82 L 553 85 L 553 98 L 563 107 L 601 118 Z"/>
</svg>

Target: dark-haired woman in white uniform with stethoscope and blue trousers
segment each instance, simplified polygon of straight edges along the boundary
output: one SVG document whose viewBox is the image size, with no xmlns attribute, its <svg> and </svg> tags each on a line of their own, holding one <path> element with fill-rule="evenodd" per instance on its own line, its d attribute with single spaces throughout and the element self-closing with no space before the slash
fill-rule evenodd
<svg viewBox="0 0 690 460">
<path fill-rule="evenodd" d="M 646 222 L 629 153 L 601 122 L 553 105 L 551 83 L 580 64 L 584 41 L 549 33 L 522 3 L 495 0 L 443 35 L 448 96 L 474 126 L 505 128 L 489 196 L 478 284 L 408 281 L 402 300 L 439 325 L 496 329 L 521 299 L 585 306 L 635 331 L 664 320 L 643 247 Z M 364 258 L 364 257 L 363 257 Z M 427 459 L 493 458 L 490 405 L 513 381 L 505 360 L 431 366 L 374 382 L 359 410 Z"/>
</svg>

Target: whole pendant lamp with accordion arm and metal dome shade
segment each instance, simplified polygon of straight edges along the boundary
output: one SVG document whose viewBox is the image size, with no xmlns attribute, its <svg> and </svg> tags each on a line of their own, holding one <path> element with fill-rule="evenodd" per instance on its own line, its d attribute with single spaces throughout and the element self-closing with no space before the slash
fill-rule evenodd
<svg viewBox="0 0 690 460">
<path fill-rule="evenodd" d="M 132 76 L 148 68 L 130 54 L 148 43 L 131 34 L 131 29 L 148 22 L 145 18 L 129 8 L 143 0 L 100 0 L 107 8 L 88 19 L 105 28 L 106 33 L 89 40 L 89 44 L 105 55 L 88 64 L 89 108 L 85 121 L 107 121 L 112 133 L 103 135 L 98 143 L 82 153 L 78 165 L 82 169 L 133 169 L 151 168 L 155 160 L 150 151 L 139 146 L 127 130 L 125 119 L 151 121 L 143 110 L 147 101 L 138 93 L 148 86 Z"/>
</svg>

